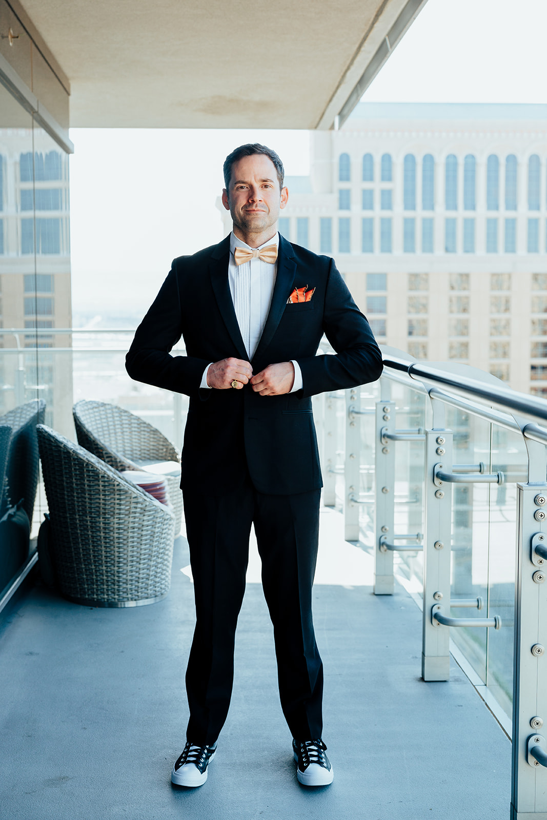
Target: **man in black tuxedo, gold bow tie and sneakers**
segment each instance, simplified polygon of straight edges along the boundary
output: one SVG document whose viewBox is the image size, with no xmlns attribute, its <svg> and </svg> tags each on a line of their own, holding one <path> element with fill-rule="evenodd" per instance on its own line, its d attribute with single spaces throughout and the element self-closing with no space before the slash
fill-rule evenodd
<svg viewBox="0 0 547 820">
<path fill-rule="evenodd" d="M 205 782 L 226 720 L 253 523 L 298 779 L 333 779 L 311 608 L 322 485 L 311 396 L 376 380 L 382 364 L 333 260 L 278 234 L 283 177 L 265 146 L 226 157 L 233 231 L 174 260 L 126 359 L 132 378 L 190 397 L 181 488 L 196 626 L 187 743 L 171 774 L 180 786 Z M 316 356 L 323 333 L 335 355 Z M 172 357 L 180 336 L 186 355 Z"/>
</svg>

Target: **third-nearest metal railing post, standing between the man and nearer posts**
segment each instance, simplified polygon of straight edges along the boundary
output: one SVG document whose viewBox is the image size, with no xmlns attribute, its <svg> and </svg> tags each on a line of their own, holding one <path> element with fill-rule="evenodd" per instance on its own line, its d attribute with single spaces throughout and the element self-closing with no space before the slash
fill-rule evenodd
<svg viewBox="0 0 547 820">
<path fill-rule="evenodd" d="M 376 402 L 375 427 L 375 549 L 374 594 L 392 595 L 394 592 L 393 551 L 381 549 L 381 538 L 394 535 L 395 495 L 395 442 L 382 444 L 381 433 L 395 430 L 395 403 L 390 400 L 390 383 L 380 380 L 381 400 Z"/>
</svg>

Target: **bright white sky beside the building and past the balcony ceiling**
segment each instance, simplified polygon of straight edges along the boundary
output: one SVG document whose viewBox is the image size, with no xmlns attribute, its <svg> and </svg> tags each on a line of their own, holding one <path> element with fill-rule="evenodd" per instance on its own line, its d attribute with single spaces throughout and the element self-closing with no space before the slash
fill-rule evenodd
<svg viewBox="0 0 547 820">
<path fill-rule="evenodd" d="M 547 103 L 547 0 L 428 0 L 365 102 Z M 139 316 L 182 253 L 222 238 L 222 162 L 271 145 L 309 169 L 307 131 L 71 129 L 72 294 L 78 314 Z"/>
</svg>

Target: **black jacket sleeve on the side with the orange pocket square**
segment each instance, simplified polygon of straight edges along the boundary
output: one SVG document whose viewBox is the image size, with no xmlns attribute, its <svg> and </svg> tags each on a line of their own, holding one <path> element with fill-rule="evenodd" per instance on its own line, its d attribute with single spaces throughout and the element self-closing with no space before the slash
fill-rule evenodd
<svg viewBox="0 0 547 820">
<path fill-rule="evenodd" d="M 333 261 L 326 284 L 323 330 L 336 354 L 297 359 L 302 371 L 303 398 L 365 385 L 380 378 L 380 348 Z"/>
</svg>

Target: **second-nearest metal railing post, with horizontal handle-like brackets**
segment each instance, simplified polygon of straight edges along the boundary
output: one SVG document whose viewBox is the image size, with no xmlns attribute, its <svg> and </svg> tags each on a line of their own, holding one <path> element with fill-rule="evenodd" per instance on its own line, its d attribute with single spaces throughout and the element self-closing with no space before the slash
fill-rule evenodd
<svg viewBox="0 0 547 820">
<path fill-rule="evenodd" d="M 450 630 L 433 622 L 432 610 L 442 601 L 450 606 L 450 531 L 452 489 L 435 485 L 435 465 L 452 470 L 452 431 L 444 428 L 444 405 L 431 400 L 433 429 L 426 431 L 426 487 L 423 542 L 422 677 L 424 681 L 448 681 L 450 677 Z"/>
</svg>

